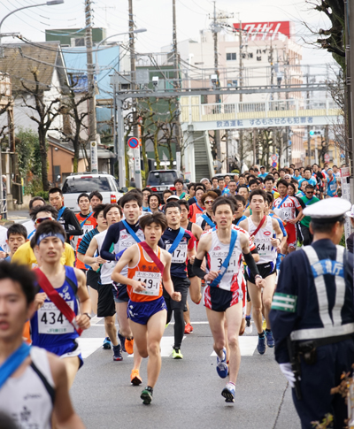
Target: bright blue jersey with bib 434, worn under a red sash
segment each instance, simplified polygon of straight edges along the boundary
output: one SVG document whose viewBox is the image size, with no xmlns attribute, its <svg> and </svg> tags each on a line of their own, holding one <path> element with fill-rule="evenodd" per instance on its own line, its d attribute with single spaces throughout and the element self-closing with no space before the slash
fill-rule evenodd
<svg viewBox="0 0 354 429">
<path fill-rule="evenodd" d="M 77 315 L 79 306 L 76 300 L 77 279 L 72 266 L 65 266 L 65 281 L 56 290 Z M 43 292 L 40 288 L 39 292 Z M 73 325 L 47 297 L 42 307 L 31 318 L 32 345 L 46 349 L 57 355 L 58 348 L 67 349 L 78 338 Z M 66 347 L 65 347 L 66 346 Z"/>
</svg>

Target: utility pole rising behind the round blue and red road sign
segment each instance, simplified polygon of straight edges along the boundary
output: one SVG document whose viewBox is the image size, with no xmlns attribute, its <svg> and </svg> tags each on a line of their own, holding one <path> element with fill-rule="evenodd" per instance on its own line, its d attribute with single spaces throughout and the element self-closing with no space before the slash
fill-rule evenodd
<svg viewBox="0 0 354 429">
<path fill-rule="evenodd" d="M 134 41 L 134 19 L 133 19 L 133 0 L 129 1 L 129 50 L 130 50 L 130 80 L 132 82 L 132 89 L 135 90 L 136 82 L 136 67 L 135 67 L 135 41 Z M 139 126 L 137 124 L 137 103 L 136 98 L 132 99 L 133 106 L 133 136 L 140 138 Z M 134 149 L 134 171 L 135 171 L 135 186 L 142 189 L 142 166 L 140 163 L 140 144 Z M 127 144 L 124 142 L 124 155 L 126 154 Z M 125 162 L 125 160 L 124 160 Z"/>
</svg>

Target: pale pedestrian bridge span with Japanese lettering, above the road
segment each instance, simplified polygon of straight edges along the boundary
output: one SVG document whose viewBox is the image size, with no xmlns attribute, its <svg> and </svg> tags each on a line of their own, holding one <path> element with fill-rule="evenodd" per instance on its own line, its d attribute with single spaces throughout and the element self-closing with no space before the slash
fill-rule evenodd
<svg viewBox="0 0 354 429">
<path fill-rule="evenodd" d="M 342 110 L 330 99 L 283 99 L 260 103 L 201 103 L 200 96 L 181 97 L 182 128 L 194 131 L 325 126 L 342 122 Z"/>
</svg>

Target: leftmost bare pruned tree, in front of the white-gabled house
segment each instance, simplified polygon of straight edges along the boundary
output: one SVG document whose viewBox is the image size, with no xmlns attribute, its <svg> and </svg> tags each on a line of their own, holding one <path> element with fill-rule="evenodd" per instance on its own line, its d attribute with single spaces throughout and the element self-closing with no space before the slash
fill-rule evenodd
<svg viewBox="0 0 354 429">
<path fill-rule="evenodd" d="M 27 85 L 21 81 L 23 88 L 26 89 L 27 94 L 31 95 L 35 99 L 35 105 L 27 103 L 27 99 L 25 96 L 22 97 L 22 101 L 24 105 L 30 109 L 30 111 L 34 111 L 33 115 L 29 114 L 29 118 L 35 121 L 37 124 L 38 130 L 38 138 L 39 138 L 39 147 L 41 153 L 41 162 L 42 162 L 42 184 L 43 189 L 49 189 L 49 181 L 48 181 L 48 155 L 47 155 L 47 142 L 46 137 L 48 131 L 50 131 L 51 126 L 53 124 L 54 119 L 58 117 L 63 111 L 63 106 L 61 105 L 61 99 L 59 97 L 55 97 L 49 103 L 45 103 L 45 97 L 43 94 L 43 90 L 40 85 L 40 81 L 38 80 L 37 70 L 34 69 L 32 72 L 34 80 L 35 80 L 35 88 L 29 88 Z"/>
</svg>

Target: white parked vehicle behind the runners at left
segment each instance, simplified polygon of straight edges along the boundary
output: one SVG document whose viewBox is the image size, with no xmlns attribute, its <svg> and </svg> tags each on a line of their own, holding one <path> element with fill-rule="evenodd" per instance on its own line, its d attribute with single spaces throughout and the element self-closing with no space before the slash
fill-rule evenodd
<svg viewBox="0 0 354 429">
<path fill-rule="evenodd" d="M 65 179 L 63 188 L 64 204 L 70 210 L 79 212 L 78 196 L 82 192 L 90 194 L 98 191 L 104 197 L 104 204 L 117 203 L 123 193 L 119 191 L 117 181 L 105 172 L 75 172 Z"/>
</svg>

